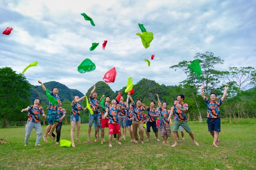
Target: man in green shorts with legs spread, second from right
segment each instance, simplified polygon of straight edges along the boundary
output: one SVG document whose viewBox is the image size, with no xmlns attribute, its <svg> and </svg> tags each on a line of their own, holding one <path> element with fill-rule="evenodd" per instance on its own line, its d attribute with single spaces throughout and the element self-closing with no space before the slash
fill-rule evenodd
<svg viewBox="0 0 256 170">
<path fill-rule="evenodd" d="M 172 127 L 172 136 L 174 140 L 174 144 L 172 147 L 177 146 L 177 133 L 180 126 L 182 126 L 186 132 L 188 132 L 189 136 L 192 139 L 192 142 L 199 146 L 198 142 L 194 139 L 194 135 L 192 133 L 192 130 L 190 129 L 188 125 L 188 121 L 186 118 L 186 112 L 188 111 L 188 104 L 184 103 L 183 100 L 185 99 L 184 95 L 177 95 L 177 103 L 173 105 L 173 109 L 171 111 L 171 114 L 169 115 L 168 119 L 171 119 L 171 116 L 173 115 L 173 127 Z"/>
</svg>

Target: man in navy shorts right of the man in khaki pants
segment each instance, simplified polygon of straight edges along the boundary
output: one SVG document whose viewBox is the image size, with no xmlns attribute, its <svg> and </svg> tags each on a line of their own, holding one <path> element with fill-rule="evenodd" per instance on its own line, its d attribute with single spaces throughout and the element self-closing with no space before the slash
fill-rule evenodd
<svg viewBox="0 0 256 170">
<path fill-rule="evenodd" d="M 150 107 L 147 107 L 145 104 L 143 104 L 143 107 L 145 108 L 146 111 L 148 111 L 147 114 L 147 136 L 148 140 L 145 142 L 150 141 L 150 127 L 152 127 L 153 132 L 155 133 L 156 140 L 160 141 L 158 139 L 158 129 L 156 127 L 156 118 L 158 118 L 158 109 L 155 108 L 156 103 L 154 101 L 150 102 Z"/>
</svg>

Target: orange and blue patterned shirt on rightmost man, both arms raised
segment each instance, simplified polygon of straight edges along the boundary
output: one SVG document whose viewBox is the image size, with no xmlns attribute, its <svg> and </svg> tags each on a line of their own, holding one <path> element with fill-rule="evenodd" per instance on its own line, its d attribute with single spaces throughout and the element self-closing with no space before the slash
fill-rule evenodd
<svg viewBox="0 0 256 170">
<path fill-rule="evenodd" d="M 220 117 L 220 105 L 223 101 L 220 99 L 216 102 L 212 102 L 209 99 L 205 98 L 204 102 L 207 105 L 207 117 L 208 118 L 218 118 Z"/>
</svg>

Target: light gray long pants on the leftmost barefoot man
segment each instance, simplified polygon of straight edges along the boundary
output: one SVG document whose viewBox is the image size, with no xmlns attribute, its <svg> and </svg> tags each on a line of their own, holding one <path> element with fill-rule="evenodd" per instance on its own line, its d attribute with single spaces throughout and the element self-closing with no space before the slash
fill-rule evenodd
<svg viewBox="0 0 256 170">
<path fill-rule="evenodd" d="M 36 135 L 36 144 L 39 144 L 39 142 L 42 138 L 42 135 L 43 135 L 41 124 L 40 123 L 34 123 L 34 122 L 31 122 L 31 121 L 27 121 L 27 124 L 26 124 L 25 144 L 28 144 L 28 139 L 29 139 L 30 133 L 31 133 L 33 128 L 35 128 L 36 134 L 37 134 Z"/>
</svg>

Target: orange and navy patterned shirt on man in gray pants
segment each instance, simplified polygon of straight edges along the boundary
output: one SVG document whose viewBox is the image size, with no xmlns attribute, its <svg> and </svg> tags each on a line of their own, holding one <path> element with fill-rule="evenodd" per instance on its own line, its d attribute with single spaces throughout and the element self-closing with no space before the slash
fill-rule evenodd
<svg viewBox="0 0 256 170">
<path fill-rule="evenodd" d="M 40 123 L 40 115 L 44 113 L 42 106 L 28 106 L 28 121 L 34 123 Z"/>
</svg>

